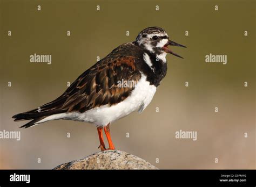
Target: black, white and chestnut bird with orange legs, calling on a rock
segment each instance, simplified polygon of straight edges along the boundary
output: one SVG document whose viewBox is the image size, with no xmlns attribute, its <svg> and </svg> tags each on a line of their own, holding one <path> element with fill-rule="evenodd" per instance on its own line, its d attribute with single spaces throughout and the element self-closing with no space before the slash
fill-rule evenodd
<svg viewBox="0 0 256 187">
<path fill-rule="evenodd" d="M 170 40 L 164 28 L 147 27 L 133 42 L 118 46 L 85 70 L 58 98 L 12 118 L 31 120 L 19 128 L 58 119 L 91 123 L 97 127 L 98 148 L 114 150 L 110 124 L 134 111 L 141 113 L 150 104 L 166 76 L 167 53 L 183 58 L 168 46 L 186 47 Z"/>
</svg>

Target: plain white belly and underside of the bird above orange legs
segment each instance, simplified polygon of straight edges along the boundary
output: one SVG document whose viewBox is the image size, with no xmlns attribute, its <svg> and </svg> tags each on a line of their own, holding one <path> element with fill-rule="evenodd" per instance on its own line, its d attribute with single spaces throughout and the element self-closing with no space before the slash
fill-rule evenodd
<svg viewBox="0 0 256 187">
<path fill-rule="evenodd" d="M 88 110 L 84 113 L 69 112 L 53 114 L 52 116 L 38 121 L 38 123 L 43 123 L 45 121 L 55 119 L 69 119 L 85 121 L 95 124 L 97 127 L 103 127 L 115 120 L 129 115 L 131 112 L 138 110 L 142 112 L 146 106 L 150 104 L 156 89 L 157 88 L 154 85 L 150 85 L 150 83 L 146 81 L 146 76 L 142 74 L 142 77 L 137 83 L 136 88 L 134 88 L 131 95 L 127 97 L 123 102 L 112 106 L 100 106 L 98 108 Z"/>
</svg>

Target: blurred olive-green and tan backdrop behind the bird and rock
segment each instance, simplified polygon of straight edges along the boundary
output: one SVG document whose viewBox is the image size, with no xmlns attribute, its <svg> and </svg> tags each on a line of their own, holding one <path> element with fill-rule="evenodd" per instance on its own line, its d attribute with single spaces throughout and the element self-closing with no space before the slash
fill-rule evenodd
<svg viewBox="0 0 256 187">
<path fill-rule="evenodd" d="M 255 169 L 255 1 L 2 0 L 0 13 L 1 131 L 21 130 L 11 116 L 57 98 L 97 56 L 160 26 L 187 46 L 173 47 L 185 59 L 167 55 L 151 104 L 111 125 L 114 145 L 160 169 Z M 34 53 L 52 55 L 52 64 L 31 63 Z M 227 64 L 206 63 L 209 53 L 227 55 Z M 179 130 L 197 131 L 197 141 L 176 139 Z M 0 169 L 52 169 L 98 146 L 95 126 L 50 121 L 22 129 L 21 141 L 0 139 Z"/>
</svg>

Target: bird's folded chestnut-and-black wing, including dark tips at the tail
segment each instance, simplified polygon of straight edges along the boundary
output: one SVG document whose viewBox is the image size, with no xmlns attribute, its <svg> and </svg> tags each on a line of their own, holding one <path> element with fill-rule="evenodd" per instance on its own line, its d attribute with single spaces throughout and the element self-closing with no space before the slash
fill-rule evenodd
<svg viewBox="0 0 256 187">
<path fill-rule="evenodd" d="M 16 118 L 15 121 L 35 118 L 39 120 L 56 113 L 85 112 L 100 105 L 117 104 L 126 99 L 134 89 L 120 88 L 118 81 L 137 82 L 141 77 L 135 68 L 135 60 L 134 57 L 120 56 L 118 53 L 108 55 L 80 75 L 62 96 L 41 106 L 40 112 L 35 109 L 16 114 L 12 118 Z M 29 125 L 33 123 L 31 121 Z"/>
</svg>

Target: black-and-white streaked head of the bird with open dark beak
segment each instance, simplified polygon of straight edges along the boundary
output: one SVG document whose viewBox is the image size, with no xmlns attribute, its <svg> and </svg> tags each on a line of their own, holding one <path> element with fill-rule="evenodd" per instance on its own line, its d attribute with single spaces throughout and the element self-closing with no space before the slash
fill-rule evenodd
<svg viewBox="0 0 256 187">
<path fill-rule="evenodd" d="M 169 35 L 161 27 L 147 27 L 141 31 L 134 44 L 143 47 L 144 49 L 155 53 L 157 55 L 166 55 L 166 53 L 173 54 L 175 56 L 181 57 L 176 53 L 173 53 L 168 46 L 178 46 L 186 47 L 180 45 L 174 41 L 169 40 Z M 183 57 L 181 57 L 183 58 Z"/>
</svg>

